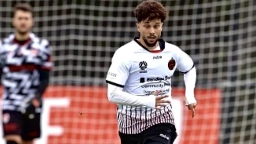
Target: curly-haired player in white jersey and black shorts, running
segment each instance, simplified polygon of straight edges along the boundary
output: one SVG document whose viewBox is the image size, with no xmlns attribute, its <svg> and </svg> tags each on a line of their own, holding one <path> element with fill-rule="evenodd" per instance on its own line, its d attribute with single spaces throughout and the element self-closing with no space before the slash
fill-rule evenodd
<svg viewBox="0 0 256 144">
<path fill-rule="evenodd" d="M 194 116 L 196 69 L 189 55 L 160 39 L 168 15 L 160 2 L 144 1 L 134 13 L 140 37 L 115 52 L 106 78 L 108 99 L 118 105 L 121 144 L 173 144 L 171 78 L 176 68 L 184 73 L 186 105 Z"/>
</svg>

